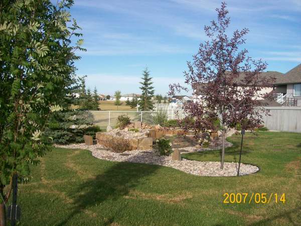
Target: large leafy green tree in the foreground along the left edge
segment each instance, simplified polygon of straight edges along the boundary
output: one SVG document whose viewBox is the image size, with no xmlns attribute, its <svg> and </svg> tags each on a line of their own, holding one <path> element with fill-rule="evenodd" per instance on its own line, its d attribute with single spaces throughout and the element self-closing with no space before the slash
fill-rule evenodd
<svg viewBox="0 0 301 226">
<path fill-rule="evenodd" d="M 51 115 L 70 99 L 75 55 L 83 43 L 70 20 L 73 1 L 0 1 L 0 225 L 13 175 L 30 178 L 30 165 L 51 150 L 44 131 Z M 7 187 L 7 188 L 5 188 Z M 5 193 L 7 191 L 7 193 Z M 3 202 L 4 199 L 4 202 Z"/>
</svg>

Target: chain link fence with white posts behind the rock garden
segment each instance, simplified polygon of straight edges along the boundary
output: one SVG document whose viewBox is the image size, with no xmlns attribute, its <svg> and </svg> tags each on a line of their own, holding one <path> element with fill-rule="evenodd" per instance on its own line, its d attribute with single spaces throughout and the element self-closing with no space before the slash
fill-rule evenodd
<svg viewBox="0 0 301 226">
<path fill-rule="evenodd" d="M 86 111 L 87 121 L 104 129 L 108 125 L 112 128 L 117 125 L 117 118 L 121 115 L 129 117 L 131 122 L 142 122 L 149 125 L 158 124 L 162 115 L 166 120 L 183 119 L 184 112 L 179 110 L 173 111 L 118 111 L 118 110 L 89 110 Z"/>
</svg>

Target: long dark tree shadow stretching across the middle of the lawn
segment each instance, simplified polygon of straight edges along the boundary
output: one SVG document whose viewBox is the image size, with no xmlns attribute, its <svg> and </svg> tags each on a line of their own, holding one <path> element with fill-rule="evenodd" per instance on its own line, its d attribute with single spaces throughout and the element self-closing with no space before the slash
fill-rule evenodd
<svg viewBox="0 0 301 226">
<path fill-rule="evenodd" d="M 142 152 L 139 158 L 147 158 L 147 155 L 147 153 Z M 143 183 L 142 179 L 144 180 L 145 177 L 154 174 L 159 168 L 158 165 L 116 162 L 95 178 L 87 179 L 76 188 L 74 193 L 70 194 L 74 197 L 75 206 L 72 212 L 58 225 L 65 225 L 76 214 L 87 210 L 91 206 L 99 205 L 108 199 L 117 200 L 127 195 L 131 189 Z M 110 225 L 114 222 L 115 216 L 120 215 L 124 208 L 125 206 L 120 206 L 115 212 L 111 212 L 111 216 L 107 217 L 103 225 Z"/>
</svg>

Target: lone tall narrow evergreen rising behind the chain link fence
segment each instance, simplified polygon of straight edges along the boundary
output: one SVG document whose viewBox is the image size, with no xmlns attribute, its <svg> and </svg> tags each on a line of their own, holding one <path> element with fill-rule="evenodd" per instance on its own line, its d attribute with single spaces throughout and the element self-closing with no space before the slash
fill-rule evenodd
<svg viewBox="0 0 301 226">
<path fill-rule="evenodd" d="M 142 93 L 139 100 L 139 110 L 152 110 L 154 109 L 152 98 L 154 96 L 154 87 L 152 86 L 152 77 L 150 77 L 148 68 L 145 68 L 142 74 L 142 82 L 139 82 Z"/>
</svg>

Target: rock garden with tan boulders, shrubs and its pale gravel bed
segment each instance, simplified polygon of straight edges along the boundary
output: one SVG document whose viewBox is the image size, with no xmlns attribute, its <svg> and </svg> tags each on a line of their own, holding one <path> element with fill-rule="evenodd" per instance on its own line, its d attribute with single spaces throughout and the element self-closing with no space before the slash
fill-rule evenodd
<svg viewBox="0 0 301 226">
<path fill-rule="evenodd" d="M 235 133 L 229 130 L 227 136 Z M 181 158 L 181 153 L 221 149 L 221 139 L 215 131 L 197 135 L 184 132 L 177 127 L 161 127 L 141 122 L 119 125 L 106 132 L 96 133 L 96 144 L 92 137 L 85 136 L 85 144 L 57 145 L 71 149 L 88 149 L 95 158 L 107 161 L 134 162 L 172 167 L 199 176 L 236 176 L 238 163 L 227 162 L 220 169 L 220 162 L 201 162 Z M 226 147 L 232 144 L 226 142 Z M 255 173 L 257 166 L 240 165 L 240 175 Z"/>
</svg>

